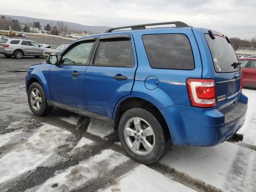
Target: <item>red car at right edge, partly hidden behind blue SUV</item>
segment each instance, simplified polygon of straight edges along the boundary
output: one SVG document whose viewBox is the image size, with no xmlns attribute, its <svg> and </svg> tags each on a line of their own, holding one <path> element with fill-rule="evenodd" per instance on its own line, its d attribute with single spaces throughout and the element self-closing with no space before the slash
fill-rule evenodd
<svg viewBox="0 0 256 192">
<path fill-rule="evenodd" d="M 256 58 L 239 59 L 243 72 L 243 86 L 256 88 Z"/>
</svg>

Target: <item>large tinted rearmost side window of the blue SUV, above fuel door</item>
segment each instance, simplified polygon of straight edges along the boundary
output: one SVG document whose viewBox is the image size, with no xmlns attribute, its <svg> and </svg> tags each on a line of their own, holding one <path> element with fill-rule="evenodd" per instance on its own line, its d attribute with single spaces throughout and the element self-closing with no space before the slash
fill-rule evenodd
<svg viewBox="0 0 256 192">
<path fill-rule="evenodd" d="M 143 35 L 149 64 L 152 68 L 193 70 L 194 56 L 184 34 Z"/>
</svg>

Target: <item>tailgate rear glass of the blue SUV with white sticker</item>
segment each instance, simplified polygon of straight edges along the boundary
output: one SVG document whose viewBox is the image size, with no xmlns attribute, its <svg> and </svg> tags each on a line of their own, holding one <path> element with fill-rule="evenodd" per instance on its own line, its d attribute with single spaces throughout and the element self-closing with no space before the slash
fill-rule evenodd
<svg viewBox="0 0 256 192">
<path fill-rule="evenodd" d="M 227 42 L 226 38 L 215 35 L 212 39 L 209 34 L 205 34 L 210 52 L 212 54 L 212 61 L 215 71 L 218 73 L 228 73 L 240 71 L 241 67 L 232 67 L 234 62 L 238 62 L 236 54 L 232 46 Z"/>
</svg>

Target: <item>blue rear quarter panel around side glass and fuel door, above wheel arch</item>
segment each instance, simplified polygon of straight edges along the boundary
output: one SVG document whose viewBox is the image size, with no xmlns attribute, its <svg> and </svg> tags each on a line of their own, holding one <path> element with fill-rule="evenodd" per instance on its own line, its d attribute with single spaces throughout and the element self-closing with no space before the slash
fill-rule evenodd
<svg viewBox="0 0 256 192">
<path fill-rule="evenodd" d="M 151 68 L 142 41 L 142 35 L 146 34 L 185 34 L 191 44 L 194 55 L 194 70 L 172 70 Z M 131 96 L 138 96 L 152 102 L 158 109 L 172 105 L 190 106 L 190 100 L 186 88 L 187 78 L 201 78 L 202 64 L 198 45 L 191 28 L 166 28 L 161 30 L 134 31 L 134 42 L 138 58 L 135 83 Z M 159 85 L 153 90 L 145 87 L 145 80 L 149 76 L 155 76 Z"/>
</svg>

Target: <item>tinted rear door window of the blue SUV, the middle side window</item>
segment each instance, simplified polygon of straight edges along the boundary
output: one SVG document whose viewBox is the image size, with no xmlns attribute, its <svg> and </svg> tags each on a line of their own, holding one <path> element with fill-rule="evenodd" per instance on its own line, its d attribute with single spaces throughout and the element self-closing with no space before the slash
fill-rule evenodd
<svg viewBox="0 0 256 192">
<path fill-rule="evenodd" d="M 94 65 L 108 67 L 134 67 L 132 44 L 128 38 L 100 40 Z"/>
</svg>

